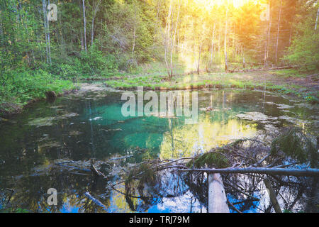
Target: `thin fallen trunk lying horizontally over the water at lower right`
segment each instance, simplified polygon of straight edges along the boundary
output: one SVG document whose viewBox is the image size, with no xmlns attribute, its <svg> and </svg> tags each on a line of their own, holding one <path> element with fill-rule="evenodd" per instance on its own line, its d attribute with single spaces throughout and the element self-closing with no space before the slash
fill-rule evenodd
<svg viewBox="0 0 319 227">
<path fill-rule="evenodd" d="M 265 167 L 247 167 L 247 168 L 236 168 L 230 167 L 225 169 L 182 169 L 182 172 L 186 171 L 197 171 L 197 172 L 207 172 L 207 173 L 258 173 L 267 175 L 290 175 L 295 177 L 319 177 L 318 169 L 291 169 L 291 168 L 265 168 Z"/>
</svg>

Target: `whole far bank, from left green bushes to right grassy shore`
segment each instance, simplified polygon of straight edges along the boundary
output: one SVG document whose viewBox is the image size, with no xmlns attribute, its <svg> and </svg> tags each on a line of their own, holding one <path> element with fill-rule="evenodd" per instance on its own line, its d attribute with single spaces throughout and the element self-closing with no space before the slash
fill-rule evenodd
<svg viewBox="0 0 319 227">
<path fill-rule="evenodd" d="M 103 80 L 108 87 L 116 89 L 174 90 L 204 88 L 266 89 L 318 103 L 318 73 L 300 70 L 272 70 L 240 73 L 185 72 L 176 67 L 172 79 L 167 79 L 163 64 L 152 62 L 140 65 L 131 72 L 108 74 L 75 73 L 75 77 L 55 75 L 47 70 L 13 70 L 3 76 L 0 87 L 0 117 L 19 113 L 30 102 L 45 99 L 45 93 L 55 92 L 57 96 L 77 89 L 78 80 Z"/>
</svg>

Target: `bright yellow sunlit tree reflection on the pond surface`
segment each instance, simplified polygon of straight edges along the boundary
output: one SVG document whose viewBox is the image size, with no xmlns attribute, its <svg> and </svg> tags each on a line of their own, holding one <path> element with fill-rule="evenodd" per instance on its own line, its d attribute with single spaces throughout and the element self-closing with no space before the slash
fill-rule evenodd
<svg viewBox="0 0 319 227">
<path fill-rule="evenodd" d="M 217 116 L 216 116 L 217 115 Z M 218 114 L 203 114 L 198 124 L 174 127 L 164 133 L 160 145 L 160 158 L 177 159 L 205 153 L 211 148 L 222 146 L 230 140 L 250 138 L 257 132 L 257 124 L 236 118 L 228 121 L 215 120 Z"/>
</svg>

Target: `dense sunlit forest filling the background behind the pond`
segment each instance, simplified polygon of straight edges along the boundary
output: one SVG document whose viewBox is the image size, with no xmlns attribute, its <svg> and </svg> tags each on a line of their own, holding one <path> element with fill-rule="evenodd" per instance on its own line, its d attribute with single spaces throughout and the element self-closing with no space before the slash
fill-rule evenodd
<svg viewBox="0 0 319 227">
<path fill-rule="evenodd" d="M 1 0 L 0 105 L 150 62 L 162 62 L 168 78 L 177 67 L 313 70 L 318 12 L 315 0 Z"/>
</svg>

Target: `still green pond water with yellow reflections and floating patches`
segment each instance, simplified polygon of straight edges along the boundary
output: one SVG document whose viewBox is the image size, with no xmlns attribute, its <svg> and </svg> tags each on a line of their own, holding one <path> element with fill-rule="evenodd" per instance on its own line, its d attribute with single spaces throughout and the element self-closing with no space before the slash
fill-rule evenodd
<svg viewBox="0 0 319 227">
<path fill-rule="evenodd" d="M 184 117 L 124 117 L 124 102 L 121 92 L 79 92 L 54 102 L 40 101 L 1 122 L 0 207 L 4 208 L 11 193 L 6 188 L 10 188 L 15 193 L 7 206 L 33 212 L 103 211 L 84 192 L 96 195 L 108 212 L 205 211 L 187 188 L 179 196 L 155 196 L 150 204 L 134 199 L 135 209 L 124 194 L 105 188 L 120 178 L 116 167 L 125 163 L 188 157 L 284 126 L 299 126 L 314 135 L 319 131 L 318 106 L 265 92 L 200 91 L 195 124 L 185 124 Z M 206 111 L 208 106 L 212 109 Z M 103 167 L 108 178 L 99 182 L 52 165 L 125 155 L 130 157 Z M 118 190 L 123 187 L 119 184 Z M 57 206 L 47 205 L 49 188 L 57 189 Z"/>
</svg>

